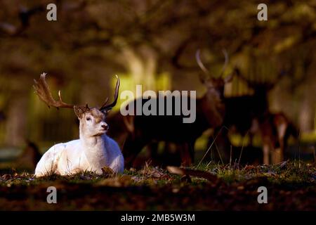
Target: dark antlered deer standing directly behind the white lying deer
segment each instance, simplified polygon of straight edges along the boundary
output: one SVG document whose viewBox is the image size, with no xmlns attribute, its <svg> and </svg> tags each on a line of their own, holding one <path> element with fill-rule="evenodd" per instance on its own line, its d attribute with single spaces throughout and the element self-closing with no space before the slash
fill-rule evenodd
<svg viewBox="0 0 316 225">
<path fill-rule="evenodd" d="M 197 51 L 197 63 L 204 72 L 204 75 L 200 74 L 199 78 L 206 87 L 206 93 L 202 98 L 196 99 L 195 122 L 183 123 L 184 115 L 124 116 L 124 123 L 126 124 L 126 129 L 129 131 L 123 148 L 126 167 L 133 166 L 133 161 L 136 159 L 138 153 L 140 153 L 140 150 L 148 143 L 151 143 L 151 141 L 176 143 L 180 146 L 182 164 L 187 166 L 192 163 L 194 160 L 196 139 L 206 129 L 220 127 L 223 124 L 223 115 L 225 114 L 225 105 L 222 101 L 224 86 L 225 83 L 232 80 L 232 75 L 223 78 L 223 72 L 228 64 L 228 54 L 225 51 L 224 55 L 225 63 L 220 76 L 213 77 L 209 76 L 209 70 L 206 70 L 204 65 L 202 65 L 199 58 L 199 51 Z M 136 99 L 135 101 L 141 101 L 141 99 Z M 142 101 L 142 104 L 145 101 Z M 188 102 L 190 101 L 188 100 Z M 159 105 L 157 105 L 158 107 Z M 174 105 L 172 112 L 175 112 Z"/>
</svg>

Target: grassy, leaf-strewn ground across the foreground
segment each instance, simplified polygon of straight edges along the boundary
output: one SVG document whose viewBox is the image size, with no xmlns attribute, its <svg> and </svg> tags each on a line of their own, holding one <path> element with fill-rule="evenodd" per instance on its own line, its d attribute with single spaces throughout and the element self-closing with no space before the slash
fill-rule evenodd
<svg viewBox="0 0 316 225">
<path fill-rule="evenodd" d="M 36 179 L 27 172 L 0 176 L 1 210 L 316 210 L 316 169 L 305 162 L 237 167 L 199 165 L 215 181 L 170 174 L 146 165 L 124 174 L 72 176 L 51 174 Z M 58 204 L 46 203 L 55 186 Z M 268 204 L 258 204 L 257 188 L 268 188 Z"/>
</svg>

